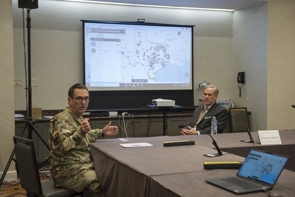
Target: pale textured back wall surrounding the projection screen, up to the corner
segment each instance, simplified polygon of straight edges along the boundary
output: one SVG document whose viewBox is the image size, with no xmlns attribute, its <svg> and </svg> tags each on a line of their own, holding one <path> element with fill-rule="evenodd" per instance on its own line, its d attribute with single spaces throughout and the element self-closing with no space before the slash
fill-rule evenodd
<svg viewBox="0 0 295 197">
<path fill-rule="evenodd" d="M 173 13 L 173 14 L 171 14 Z M 25 13 L 26 16 L 26 13 Z M 206 80 L 232 97 L 232 12 L 135 7 L 42 0 L 31 10 L 32 106 L 63 109 L 67 91 L 83 83 L 82 22 L 80 20 L 134 21 L 195 25 L 194 86 Z M 13 0 L 14 76 L 24 83 L 22 9 Z M 111 71 L 110 71 L 111 72 Z M 219 77 L 220 74 L 226 77 Z M 24 87 L 15 88 L 15 109 L 26 109 Z M 198 92 L 195 105 L 199 105 Z"/>
</svg>

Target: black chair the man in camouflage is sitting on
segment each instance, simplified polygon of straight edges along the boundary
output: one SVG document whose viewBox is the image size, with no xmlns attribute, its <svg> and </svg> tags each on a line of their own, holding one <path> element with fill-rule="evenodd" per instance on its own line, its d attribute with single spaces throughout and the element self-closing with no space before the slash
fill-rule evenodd
<svg viewBox="0 0 295 197">
<path fill-rule="evenodd" d="M 57 188 L 53 180 L 41 183 L 33 141 L 18 136 L 13 136 L 13 140 L 20 182 L 28 197 L 83 196 L 82 192 Z"/>
</svg>

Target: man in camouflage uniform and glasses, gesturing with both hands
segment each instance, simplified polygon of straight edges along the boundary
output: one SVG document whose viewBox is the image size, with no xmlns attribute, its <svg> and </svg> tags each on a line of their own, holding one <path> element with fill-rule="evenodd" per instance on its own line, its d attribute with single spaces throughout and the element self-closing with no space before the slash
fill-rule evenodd
<svg viewBox="0 0 295 197">
<path fill-rule="evenodd" d="M 88 145 L 104 135 L 116 135 L 118 127 L 111 126 L 109 122 L 103 129 L 91 130 L 89 119 L 81 116 L 89 101 L 87 87 L 77 83 L 68 91 L 68 108 L 50 120 L 50 174 L 60 188 L 99 196 L 103 191 Z"/>
</svg>

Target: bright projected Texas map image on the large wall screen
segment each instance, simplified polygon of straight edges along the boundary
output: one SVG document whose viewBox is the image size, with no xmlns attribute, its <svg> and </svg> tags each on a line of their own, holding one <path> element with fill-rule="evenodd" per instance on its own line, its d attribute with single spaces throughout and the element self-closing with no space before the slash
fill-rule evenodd
<svg viewBox="0 0 295 197">
<path fill-rule="evenodd" d="M 90 77 L 92 85 L 142 87 L 190 83 L 189 27 L 112 27 L 86 28 L 85 48 L 89 58 L 85 64 L 90 66 L 87 78 Z M 109 71 L 116 77 L 109 77 Z"/>
</svg>

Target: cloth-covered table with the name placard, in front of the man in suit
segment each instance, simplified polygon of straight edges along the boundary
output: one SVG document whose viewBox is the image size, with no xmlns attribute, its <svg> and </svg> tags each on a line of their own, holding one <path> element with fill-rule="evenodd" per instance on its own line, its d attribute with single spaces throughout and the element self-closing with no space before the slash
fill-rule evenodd
<svg viewBox="0 0 295 197">
<path fill-rule="evenodd" d="M 248 133 L 221 133 L 212 136 L 221 151 L 246 157 L 251 148 L 257 148 L 270 153 L 289 156 L 285 169 L 295 172 L 295 130 L 279 130 L 282 144 L 261 145 L 255 142 L 258 132 L 251 132 L 253 143 L 241 142 L 240 140 L 250 140 Z M 179 135 L 173 136 L 179 140 L 194 140 L 199 145 L 208 148 L 215 148 L 212 139 L 208 135 Z"/>
</svg>

